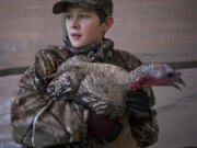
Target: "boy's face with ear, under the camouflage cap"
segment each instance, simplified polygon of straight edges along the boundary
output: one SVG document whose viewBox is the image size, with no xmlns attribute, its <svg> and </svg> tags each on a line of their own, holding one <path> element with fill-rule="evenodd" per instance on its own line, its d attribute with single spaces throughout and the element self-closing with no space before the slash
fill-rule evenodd
<svg viewBox="0 0 197 148">
<path fill-rule="evenodd" d="M 94 10 L 70 4 L 66 15 L 66 29 L 73 47 L 80 48 L 102 42 L 107 27 L 105 22 L 100 23 Z"/>
</svg>

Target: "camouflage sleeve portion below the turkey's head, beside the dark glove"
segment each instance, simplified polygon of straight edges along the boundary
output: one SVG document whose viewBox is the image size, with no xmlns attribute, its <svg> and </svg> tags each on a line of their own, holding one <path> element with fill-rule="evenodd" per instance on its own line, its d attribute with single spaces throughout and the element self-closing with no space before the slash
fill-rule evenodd
<svg viewBox="0 0 197 148">
<path fill-rule="evenodd" d="M 151 88 L 144 89 L 150 98 L 149 112 L 140 118 L 129 117 L 130 130 L 140 147 L 148 147 L 158 140 L 159 125 L 153 109 L 154 94 Z"/>
</svg>

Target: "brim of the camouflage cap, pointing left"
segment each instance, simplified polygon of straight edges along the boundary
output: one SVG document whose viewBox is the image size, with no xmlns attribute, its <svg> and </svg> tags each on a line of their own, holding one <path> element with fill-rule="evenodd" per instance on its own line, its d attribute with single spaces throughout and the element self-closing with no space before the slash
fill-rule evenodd
<svg viewBox="0 0 197 148">
<path fill-rule="evenodd" d="M 59 13 L 65 12 L 68 3 L 70 3 L 70 2 L 68 2 L 68 1 L 58 1 L 58 2 L 56 2 L 54 4 L 54 7 L 53 7 L 53 13 L 54 14 L 59 14 Z"/>
</svg>

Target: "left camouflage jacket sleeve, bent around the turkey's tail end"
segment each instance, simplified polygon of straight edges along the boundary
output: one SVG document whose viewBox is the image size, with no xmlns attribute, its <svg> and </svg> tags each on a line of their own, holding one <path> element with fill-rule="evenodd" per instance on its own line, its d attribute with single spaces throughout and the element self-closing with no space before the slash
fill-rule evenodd
<svg viewBox="0 0 197 148">
<path fill-rule="evenodd" d="M 80 141 L 86 136 L 88 111 L 67 101 L 53 101 L 45 89 L 68 54 L 44 49 L 20 79 L 11 96 L 13 139 L 25 147 Z"/>
</svg>

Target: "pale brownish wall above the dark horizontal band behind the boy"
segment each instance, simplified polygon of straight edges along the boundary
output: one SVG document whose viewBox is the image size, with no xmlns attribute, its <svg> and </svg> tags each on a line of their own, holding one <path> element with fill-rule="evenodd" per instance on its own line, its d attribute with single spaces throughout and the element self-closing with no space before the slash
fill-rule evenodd
<svg viewBox="0 0 197 148">
<path fill-rule="evenodd" d="M 0 69 L 26 66 L 36 50 L 62 45 L 57 0 L 0 1 Z M 107 37 L 143 61 L 197 59 L 196 0 L 114 0 Z"/>
</svg>

